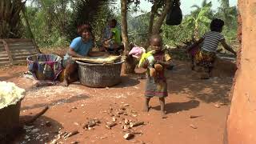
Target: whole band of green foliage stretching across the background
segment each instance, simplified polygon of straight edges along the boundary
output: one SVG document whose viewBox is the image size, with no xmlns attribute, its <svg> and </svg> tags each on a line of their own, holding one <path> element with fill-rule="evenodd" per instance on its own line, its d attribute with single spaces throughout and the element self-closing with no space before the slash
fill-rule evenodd
<svg viewBox="0 0 256 144">
<path fill-rule="evenodd" d="M 222 0 L 225 1 L 225 0 Z M 94 28 L 96 40 L 102 36 L 102 29 L 107 25 L 110 18 L 116 18 L 121 22 L 119 12 L 114 14 L 114 8 L 110 7 L 110 2 L 119 2 L 117 0 L 95 1 L 95 0 L 37 0 L 36 5 L 26 7 L 26 16 L 30 21 L 30 27 L 36 38 L 36 42 L 41 47 L 50 46 L 68 46 L 70 41 L 77 35 L 77 26 L 90 22 Z M 42 3 L 43 2 L 43 3 Z M 130 0 L 130 2 L 140 2 Z M 150 0 L 150 2 L 154 2 Z M 164 1 L 159 1 L 162 6 Z M 64 5 L 63 5 L 64 4 Z M 145 13 L 137 17 L 132 17 L 137 7 L 129 6 L 127 21 L 128 35 L 130 42 L 143 46 L 148 38 L 148 29 L 150 22 L 150 13 Z M 236 43 L 237 32 L 237 13 L 236 7 L 227 5 L 221 6 L 216 13 L 211 9 L 211 3 L 203 1 L 202 6 L 194 6 L 195 10 L 191 14 L 183 16 L 182 24 L 179 26 L 162 25 L 162 38 L 165 44 L 169 46 L 179 45 L 193 38 L 196 34 L 201 37 L 202 34 L 210 30 L 210 21 L 213 18 L 222 18 L 225 22 L 222 34 L 228 43 Z M 25 25 L 24 19 L 22 19 Z M 25 29 L 26 30 L 26 29 Z M 22 34 L 24 38 L 30 38 L 26 30 Z"/>
</svg>

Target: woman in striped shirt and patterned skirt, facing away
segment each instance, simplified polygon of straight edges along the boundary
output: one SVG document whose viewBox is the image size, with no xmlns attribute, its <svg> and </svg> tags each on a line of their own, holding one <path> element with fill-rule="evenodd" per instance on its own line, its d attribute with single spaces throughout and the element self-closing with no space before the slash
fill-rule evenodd
<svg viewBox="0 0 256 144">
<path fill-rule="evenodd" d="M 204 74 L 202 74 L 201 78 L 209 78 L 219 42 L 221 42 L 226 50 L 236 55 L 236 52 L 226 43 L 225 38 L 221 34 L 223 26 L 224 22 L 221 19 L 214 19 L 210 23 L 210 31 L 204 34 L 198 42 L 189 46 L 189 50 L 191 50 L 194 46 L 198 46 L 199 43 L 202 43 L 201 49 L 194 55 L 194 64 L 204 68 Z"/>
</svg>

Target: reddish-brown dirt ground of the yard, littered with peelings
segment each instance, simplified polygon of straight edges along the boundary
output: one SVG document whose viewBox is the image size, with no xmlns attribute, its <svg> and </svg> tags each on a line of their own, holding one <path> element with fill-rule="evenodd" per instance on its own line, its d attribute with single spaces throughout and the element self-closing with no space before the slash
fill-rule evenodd
<svg viewBox="0 0 256 144">
<path fill-rule="evenodd" d="M 230 106 L 228 94 L 232 78 L 194 78 L 187 62 L 175 61 L 174 70 L 167 71 L 168 93 L 166 114 L 160 117 L 158 98 L 150 101 L 151 109 L 142 112 L 146 79 L 122 74 L 122 83 L 110 88 L 89 88 L 79 83 L 69 87 L 35 87 L 29 78 L 22 78 L 26 66 L 0 68 L 0 81 L 14 82 L 26 89 L 22 100 L 21 118 L 37 114 L 44 106 L 50 109 L 32 126 L 15 138 L 14 143 L 50 143 L 59 132 L 78 130 L 70 138 L 60 138 L 62 143 L 175 143 L 175 144 L 220 144 L 226 124 L 226 113 Z M 216 106 L 218 103 L 218 106 Z M 126 115 L 117 116 L 117 126 L 106 129 L 106 122 L 113 121 L 113 114 L 121 106 Z M 191 115 L 199 116 L 190 118 Z M 82 125 L 88 118 L 98 118 L 101 123 L 94 130 L 84 130 Z M 138 133 L 134 138 L 123 138 L 124 120 L 144 122 L 131 130 Z M 122 124 L 120 123 L 122 122 Z M 193 128 L 194 127 L 194 128 Z"/>
</svg>

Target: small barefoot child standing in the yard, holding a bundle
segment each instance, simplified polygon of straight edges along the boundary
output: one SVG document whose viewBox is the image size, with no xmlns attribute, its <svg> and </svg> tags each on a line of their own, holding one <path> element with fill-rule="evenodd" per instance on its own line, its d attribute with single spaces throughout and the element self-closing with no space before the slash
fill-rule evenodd
<svg viewBox="0 0 256 144">
<path fill-rule="evenodd" d="M 148 64 L 146 70 L 145 111 L 149 111 L 150 98 L 158 97 L 162 118 L 167 118 L 165 112 L 165 98 L 168 95 L 166 77 L 164 75 L 164 70 L 157 70 L 158 68 L 156 67 L 156 64 L 162 65 L 163 68 L 170 66 L 170 55 L 167 51 L 162 50 L 162 38 L 159 35 L 153 35 L 150 38 L 150 49 L 154 50 L 154 64 Z M 152 68 L 156 69 L 154 71 L 156 74 L 150 74 Z"/>
</svg>

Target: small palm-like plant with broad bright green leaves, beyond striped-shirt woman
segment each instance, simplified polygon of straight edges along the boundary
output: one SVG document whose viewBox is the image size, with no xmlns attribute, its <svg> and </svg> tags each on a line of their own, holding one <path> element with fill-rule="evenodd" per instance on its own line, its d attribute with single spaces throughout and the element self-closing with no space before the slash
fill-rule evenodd
<svg viewBox="0 0 256 144">
<path fill-rule="evenodd" d="M 202 8 L 199 8 L 198 14 L 191 14 L 185 19 L 186 26 L 194 29 L 193 37 L 195 40 L 198 40 L 199 24 L 202 24 L 202 26 L 207 26 L 210 23 L 210 18 L 208 18 L 206 14 L 209 13 L 211 6 L 211 2 L 209 2 Z"/>
</svg>

